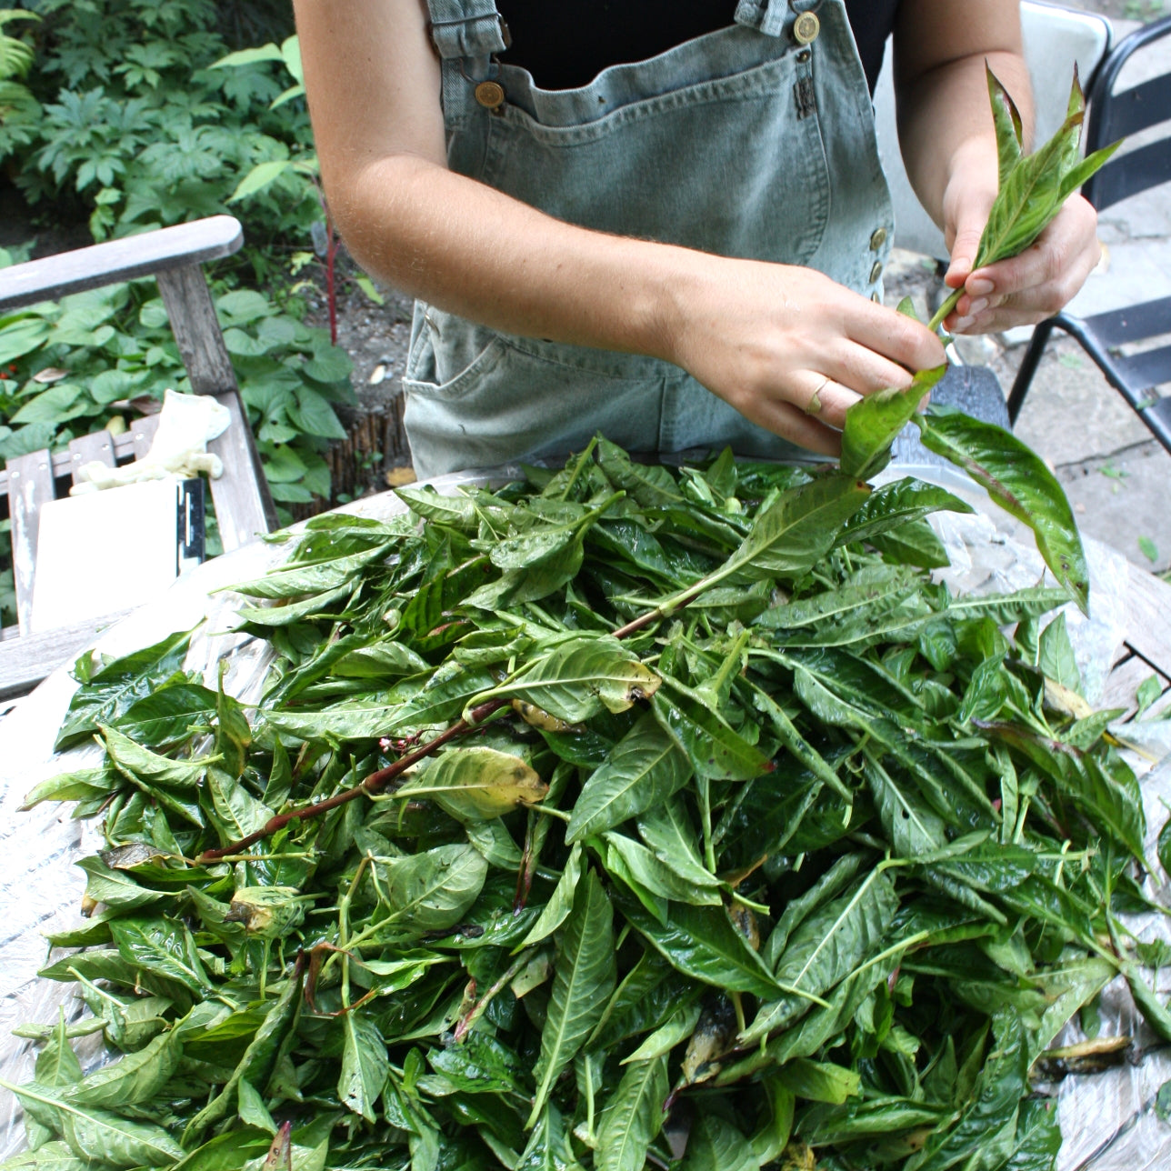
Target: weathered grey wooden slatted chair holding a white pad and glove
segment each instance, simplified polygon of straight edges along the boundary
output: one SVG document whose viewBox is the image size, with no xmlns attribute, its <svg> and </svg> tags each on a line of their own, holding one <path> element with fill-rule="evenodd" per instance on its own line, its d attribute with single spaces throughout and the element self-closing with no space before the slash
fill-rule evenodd
<svg viewBox="0 0 1171 1171">
<path fill-rule="evenodd" d="M 208 444 L 208 450 L 224 461 L 224 475 L 211 481 L 211 489 L 225 552 L 246 545 L 276 525 L 201 267 L 206 261 L 231 255 L 242 242 L 237 219 L 214 215 L 0 269 L 0 313 L 118 281 L 142 276 L 158 281 L 192 390 L 214 395 L 232 415 L 227 431 Z M 0 471 L 0 504 L 7 499 L 12 518 L 19 622 L 0 631 L 0 698 L 29 690 L 82 651 L 100 629 L 123 617 L 114 614 L 53 631 L 29 632 L 40 509 L 55 499 L 59 481 L 64 486 L 70 479 L 76 480 L 83 464 L 101 460 L 115 466 L 144 456 L 156 426 L 157 419 L 138 419 L 123 434 L 98 431 L 75 439 L 68 451 L 32 452 L 8 460 L 6 470 Z"/>
</svg>

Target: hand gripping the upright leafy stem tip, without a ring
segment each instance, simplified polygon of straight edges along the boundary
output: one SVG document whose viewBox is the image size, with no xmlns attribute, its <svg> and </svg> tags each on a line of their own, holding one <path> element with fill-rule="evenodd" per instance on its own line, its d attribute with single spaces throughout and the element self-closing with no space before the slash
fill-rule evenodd
<svg viewBox="0 0 1171 1171">
<path fill-rule="evenodd" d="M 1097 213 L 1081 196 L 1073 196 L 1019 256 L 973 272 L 994 196 L 973 191 L 961 180 L 944 196 L 952 256 L 944 280 L 950 288 L 964 288 L 956 311 L 944 322 L 953 334 L 1002 333 L 1052 317 L 1074 299 L 1102 256 Z"/>
</svg>

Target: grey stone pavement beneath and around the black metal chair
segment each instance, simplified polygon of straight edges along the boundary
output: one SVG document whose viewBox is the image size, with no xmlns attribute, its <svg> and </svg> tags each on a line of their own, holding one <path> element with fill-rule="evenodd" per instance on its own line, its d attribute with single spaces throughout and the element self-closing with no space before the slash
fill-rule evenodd
<svg viewBox="0 0 1171 1171">
<path fill-rule="evenodd" d="M 1115 21 L 1116 37 L 1136 27 Z M 1151 56 L 1146 76 L 1171 73 L 1171 40 Z M 1143 80 L 1144 73 L 1128 68 L 1121 84 Z M 1103 262 L 1070 306 L 1073 313 L 1086 316 L 1171 295 L 1171 185 L 1109 208 L 1100 238 Z M 888 301 L 911 293 L 922 309 L 934 285 L 931 261 L 897 253 L 888 269 Z M 1025 349 L 1020 336 L 960 338 L 958 349 L 965 362 L 991 367 L 1007 395 Z M 1054 334 L 1046 350 L 1016 433 L 1055 468 L 1086 533 L 1145 568 L 1171 566 L 1171 454 L 1064 335 Z"/>
</svg>

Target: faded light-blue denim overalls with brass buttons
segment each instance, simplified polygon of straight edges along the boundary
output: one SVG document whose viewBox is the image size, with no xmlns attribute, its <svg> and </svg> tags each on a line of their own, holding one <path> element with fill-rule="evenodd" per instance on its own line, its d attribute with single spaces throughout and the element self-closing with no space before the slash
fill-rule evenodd
<svg viewBox="0 0 1171 1171">
<path fill-rule="evenodd" d="M 802 265 L 877 294 L 893 212 L 842 0 L 739 0 L 727 28 L 570 90 L 498 61 L 494 0 L 429 7 L 453 171 L 582 227 Z M 563 457 L 597 431 L 631 452 L 808 458 L 671 363 L 506 335 L 423 302 L 403 389 L 419 477 Z"/>
</svg>

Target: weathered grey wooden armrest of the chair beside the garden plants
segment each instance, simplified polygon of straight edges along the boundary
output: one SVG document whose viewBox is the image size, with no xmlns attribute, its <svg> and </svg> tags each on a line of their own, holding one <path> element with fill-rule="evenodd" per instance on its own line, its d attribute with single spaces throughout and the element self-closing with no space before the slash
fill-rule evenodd
<svg viewBox="0 0 1171 1171">
<path fill-rule="evenodd" d="M 230 256 L 244 244 L 240 221 L 211 215 L 109 240 L 0 269 L 0 311 L 37 301 L 56 301 L 69 293 L 153 276 L 206 260 Z"/>
</svg>

